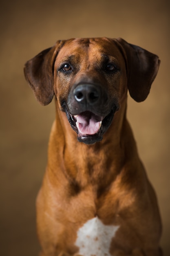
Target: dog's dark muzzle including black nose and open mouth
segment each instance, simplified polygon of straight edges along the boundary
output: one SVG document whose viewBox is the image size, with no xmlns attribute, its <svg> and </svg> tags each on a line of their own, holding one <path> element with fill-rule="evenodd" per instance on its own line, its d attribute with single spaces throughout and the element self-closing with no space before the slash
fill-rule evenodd
<svg viewBox="0 0 170 256">
<path fill-rule="evenodd" d="M 99 85 L 82 83 L 70 91 L 62 107 L 78 141 L 94 144 L 102 140 L 118 109 L 113 103 L 110 112 L 106 111 L 107 102 L 108 95 Z"/>
</svg>

